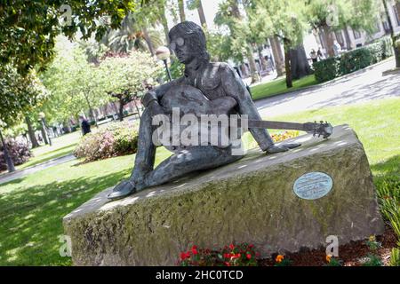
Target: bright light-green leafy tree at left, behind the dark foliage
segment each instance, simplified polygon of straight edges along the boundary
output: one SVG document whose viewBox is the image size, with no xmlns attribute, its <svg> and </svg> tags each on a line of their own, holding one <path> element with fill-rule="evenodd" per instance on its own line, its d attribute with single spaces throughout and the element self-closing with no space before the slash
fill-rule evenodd
<svg viewBox="0 0 400 284">
<path fill-rule="evenodd" d="M 88 109 L 92 120 L 97 120 L 93 108 L 109 101 L 101 90 L 97 67 L 87 62 L 84 51 L 76 44 L 68 46 L 67 41 L 60 39 L 57 51 L 57 57 L 41 75 L 44 85 L 51 91 L 44 106 L 45 113 L 51 121 L 68 125 L 71 117 Z"/>
</svg>

